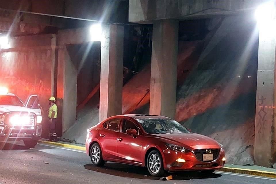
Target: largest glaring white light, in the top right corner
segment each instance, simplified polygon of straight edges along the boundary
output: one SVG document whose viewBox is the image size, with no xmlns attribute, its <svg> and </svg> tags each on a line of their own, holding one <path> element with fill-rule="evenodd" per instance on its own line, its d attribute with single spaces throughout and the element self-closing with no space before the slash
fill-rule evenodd
<svg viewBox="0 0 276 184">
<path fill-rule="evenodd" d="M 276 9 L 273 1 L 260 5 L 256 9 L 255 17 L 258 21 L 258 24 L 270 24 L 271 20 L 274 20 L 276 17 Z"/>
</svg>

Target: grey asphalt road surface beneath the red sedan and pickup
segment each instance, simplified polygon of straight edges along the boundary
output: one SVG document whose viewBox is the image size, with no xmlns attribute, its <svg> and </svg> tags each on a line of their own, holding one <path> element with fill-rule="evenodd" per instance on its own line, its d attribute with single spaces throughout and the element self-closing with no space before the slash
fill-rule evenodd
<svg viewBox="0 0 276 184">
<path fill-rule="evenodd" d="M 275 184 L 276 179 L 217 172 L 203 176 L 200 172 L 175 173 L 169 181 L 150 177 L 146 168 L 107 163 L 98 168 L 81 151 L 37 145 L 26 149 L 20 142 L 6 144 L 0 150 L 0 184 Z M 147 175 L 147 176 L 145 176 Z"/>
</svg>

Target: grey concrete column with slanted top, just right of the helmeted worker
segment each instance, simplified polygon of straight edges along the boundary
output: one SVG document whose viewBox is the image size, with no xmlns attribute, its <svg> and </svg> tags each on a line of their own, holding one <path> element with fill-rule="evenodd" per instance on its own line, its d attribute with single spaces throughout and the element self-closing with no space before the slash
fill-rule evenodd
<svg viewBox="0 0 276 184">
<path fill-rule="evenodd" d="M 62 104 L 62 133 L 76 122 L 77 106 L 77 76 L 78 70 L 74 65 L 66 47 L 64 48 L 63 74 L 63 104 Z"/>
</svg>

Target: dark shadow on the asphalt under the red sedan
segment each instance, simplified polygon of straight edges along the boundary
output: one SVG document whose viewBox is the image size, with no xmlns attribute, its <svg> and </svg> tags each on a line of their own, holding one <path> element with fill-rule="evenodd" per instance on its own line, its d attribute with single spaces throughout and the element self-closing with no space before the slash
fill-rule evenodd
<svg viewBox="0 0 276 184">
<path fill-rule="evenodd" d="M 136 178 L 136 179 L 153 179 L 159 180 L 160 177 L 153 177 L 147 171 L 145 167 L 131 166 L 126 164 L 118 163 L 106 163 L 104 167 L 95 167 L 93 164 L 84 165 L 85 169 L 93 170 L 100 173 L 105 173 L 108 175 Z M 147 175 L 147 176 L 145 176 Z M 169 173 L 167 175 L 172 175 L 172 180 L 190 180 L 190 179 L 208 179 L 208 178 L 218 178 L 221 177 L 220 174 L 203 174 L 200 172 L 178 172 L 178 173 Z"/>
</svg>

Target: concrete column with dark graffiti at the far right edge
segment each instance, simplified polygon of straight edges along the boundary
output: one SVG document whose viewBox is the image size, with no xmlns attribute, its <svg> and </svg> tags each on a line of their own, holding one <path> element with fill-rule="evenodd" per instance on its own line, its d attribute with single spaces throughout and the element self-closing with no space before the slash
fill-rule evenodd
<svg viewBox="0 0 276 184">
<path fill-rule="evenodd" d="M 254 162 L 271 167 L 276 163 L 275 20 L 259 31 Z"/>
</svg>

